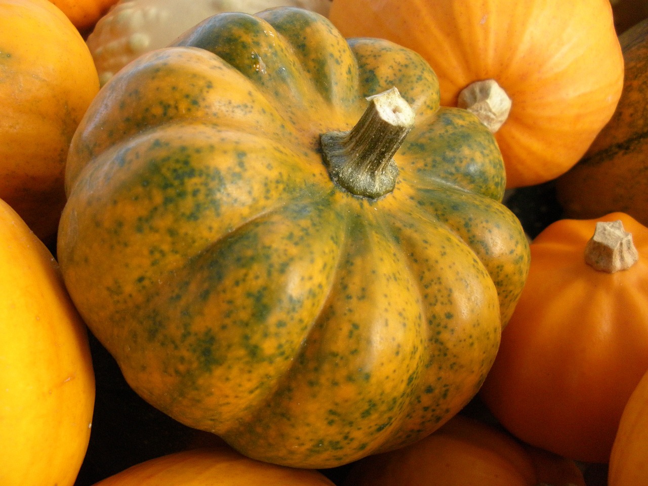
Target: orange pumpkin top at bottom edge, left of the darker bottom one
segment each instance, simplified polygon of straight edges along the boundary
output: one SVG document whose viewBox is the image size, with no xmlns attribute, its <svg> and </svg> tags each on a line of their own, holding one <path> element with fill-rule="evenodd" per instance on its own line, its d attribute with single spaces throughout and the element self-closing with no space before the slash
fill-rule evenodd
<svg viewBox="0 0 648 486">
<path fill-rule="evenodd" d="M 316 470 L 255 461 L 228 446 L 199 448 L 150 459 L 95 486 L 334 486 Z"/>
</svg>

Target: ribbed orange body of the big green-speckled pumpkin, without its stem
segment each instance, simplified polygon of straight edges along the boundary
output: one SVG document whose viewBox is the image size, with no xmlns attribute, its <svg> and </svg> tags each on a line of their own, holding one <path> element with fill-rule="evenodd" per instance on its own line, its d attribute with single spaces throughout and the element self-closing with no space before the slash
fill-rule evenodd
<svg viewBox="0 0 648 486">
<path fill-rule="evenodd" d="M 396 188 L 353 196 L 319 135 L 393 86 L 417 113 Z M 528 246 L 491 133 L 438 100 L 418 54 L 349 44 L 298 8 L 211 17 L 112 78 L 71 146 L 58 252 L 133 389 L 248 456 L 314 468 L 465 405 Z"/>
</svg>

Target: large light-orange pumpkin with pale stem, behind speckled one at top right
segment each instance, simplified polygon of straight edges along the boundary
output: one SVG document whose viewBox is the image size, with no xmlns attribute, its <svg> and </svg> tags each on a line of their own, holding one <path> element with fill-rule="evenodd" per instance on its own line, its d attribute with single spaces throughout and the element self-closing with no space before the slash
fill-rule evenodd
<svg viewBox="0 0 648 486">
<path fill-rule="evenodd" d="M 496 130 L 509 188 L 575 165 L 621 94 L 609 0 L 334 0 L 329 18 L 346 37 L 422 54 L 441 105 L 473 110 Z"/>
</svg>

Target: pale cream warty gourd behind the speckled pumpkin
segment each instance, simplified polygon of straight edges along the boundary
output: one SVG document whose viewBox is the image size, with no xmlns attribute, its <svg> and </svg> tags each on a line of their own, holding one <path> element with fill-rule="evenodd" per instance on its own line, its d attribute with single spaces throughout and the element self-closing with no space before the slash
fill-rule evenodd
<svg viewBox="0 0 648 486">
<path fill-rule="evenodd" d="M 246 12 L 281 5 L 326 15 L 330 0 L 120 0 L 87 37 L 102 84 L 144 52 L 167 47 L 185 30 L 221 12 Z"/>
</svg>

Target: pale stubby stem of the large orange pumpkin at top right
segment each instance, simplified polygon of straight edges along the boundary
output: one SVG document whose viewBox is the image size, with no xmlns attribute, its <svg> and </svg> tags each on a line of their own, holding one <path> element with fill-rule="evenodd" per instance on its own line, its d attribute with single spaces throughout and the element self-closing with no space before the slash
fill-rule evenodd
<svg viewBox="0 0 648 486">
<path fill-rule="evenodd" d="M 457 106 L 477 115 L 492 133 L 509 117 L 511 98 L 494 79 L 475 81 L 459 93 Z"/>
</svg>

